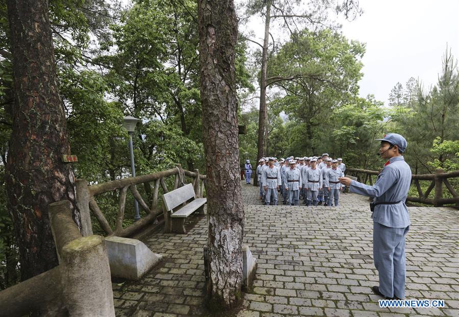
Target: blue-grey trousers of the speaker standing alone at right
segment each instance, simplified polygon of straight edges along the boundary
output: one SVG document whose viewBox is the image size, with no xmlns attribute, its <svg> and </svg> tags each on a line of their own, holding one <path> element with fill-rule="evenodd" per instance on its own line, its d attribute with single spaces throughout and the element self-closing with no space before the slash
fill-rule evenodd
<svg viewBox="0 0 459 317">
<path fill-rule="evenodd" d="M 373 223 L 373 259 L 379 291 L 387 297 L 405 297 L 405 236 L 410 230 Z"/>
</svg>

